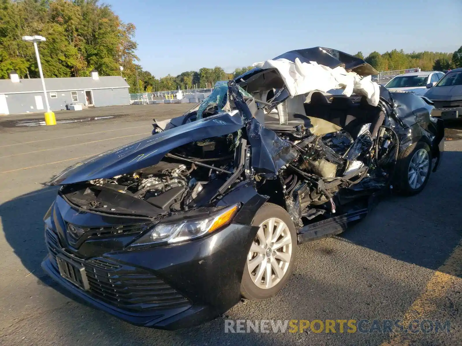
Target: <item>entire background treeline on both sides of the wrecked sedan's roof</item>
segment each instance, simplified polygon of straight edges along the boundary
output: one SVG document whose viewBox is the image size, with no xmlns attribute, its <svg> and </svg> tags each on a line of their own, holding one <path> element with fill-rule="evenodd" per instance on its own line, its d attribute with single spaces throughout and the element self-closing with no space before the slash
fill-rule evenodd
<svg viewBox="0 0 462 346">
<path fill-rule="evenodd" d="M 38 77 L 33 45 L 21 40 L 32 35 L 47 39 L 39 48 L 45 77 L 86 77 L 93 69 L 101 76 L 116 76 L 122 66 L 131 93 L 210 88 L 252 68 L 228 73 L 219 66 L 203 67 L 155 78 L 136 64 L 134 34 L 134 24 L 123 23 L 98 0 L 0 0 L 0 78 L 9 78 L 11 70 L 21 78 Z M 364 58 L 361 52 L 356 55 Z M 441 71 L 462 66 L 462 47 L 455 53 L 372 52 L 365 60 L 378 71 L 411 67 Z"/>
</svg>

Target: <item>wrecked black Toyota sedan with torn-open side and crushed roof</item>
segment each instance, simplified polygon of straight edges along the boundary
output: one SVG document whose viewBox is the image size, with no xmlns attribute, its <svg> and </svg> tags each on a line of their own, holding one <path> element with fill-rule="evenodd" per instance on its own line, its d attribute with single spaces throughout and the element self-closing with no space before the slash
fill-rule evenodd
<svg viewBox="0 0 462 346">
<path fill-rule="evenodd" d="M 316 47 L 254 66 L 48 183 L 52 278 L 136 325 L 197 325 L 273 296 L 299 243 L 341 233 L 380 194 L 422 191 L 438 167 L 433 106 L 372 82 L 364 60 Z"/>
</svg>

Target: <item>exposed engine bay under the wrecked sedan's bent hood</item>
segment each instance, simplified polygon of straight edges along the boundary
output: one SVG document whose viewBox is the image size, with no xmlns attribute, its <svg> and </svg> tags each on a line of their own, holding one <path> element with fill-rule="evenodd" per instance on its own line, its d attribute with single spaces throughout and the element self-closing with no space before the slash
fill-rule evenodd
<svg viewBox="0 0 462 346">
<path fill-rule="evenodd" d="M 231 140 L 232 134 L 189 143 L 154 166 L 65 185 L 61 193 L 82 209 L 116 214 L 156 216 L 188 210 L 209 203 L 232 173 L 227 170 L 234 161 Z M 182 156 L 185 153 L 201 158 Z"/>
</svg>

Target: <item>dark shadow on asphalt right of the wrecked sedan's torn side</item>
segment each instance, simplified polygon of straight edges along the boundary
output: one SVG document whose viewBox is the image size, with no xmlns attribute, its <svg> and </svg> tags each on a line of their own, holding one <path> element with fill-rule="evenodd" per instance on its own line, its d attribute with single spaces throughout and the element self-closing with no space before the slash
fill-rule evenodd
<svg viewBox="0 0 462 346">
<path fill-rule="evenodd" d="M 385 198 L 339 239 L 436 270 L 462 238 L 462 152 L 445 152 L 424 191 Z"/>
</svg>

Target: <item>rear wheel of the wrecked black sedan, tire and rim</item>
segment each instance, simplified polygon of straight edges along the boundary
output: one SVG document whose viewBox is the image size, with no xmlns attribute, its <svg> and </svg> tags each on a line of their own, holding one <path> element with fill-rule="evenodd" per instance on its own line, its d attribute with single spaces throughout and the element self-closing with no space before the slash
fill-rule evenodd
<svg viewBox="0 0 462 346">
<path fill-rule="evenodd" d="M 398 181 L 404 195 L 418 194 L 427 185 L 432 171 L 432 152 L 428 144 L 417 142 L 398 156 Z"/>
</svg>

